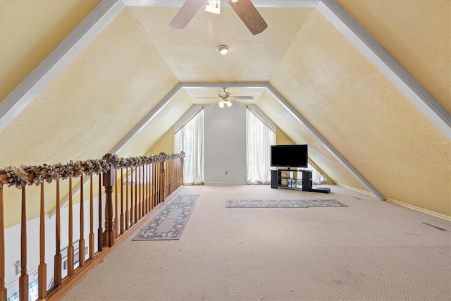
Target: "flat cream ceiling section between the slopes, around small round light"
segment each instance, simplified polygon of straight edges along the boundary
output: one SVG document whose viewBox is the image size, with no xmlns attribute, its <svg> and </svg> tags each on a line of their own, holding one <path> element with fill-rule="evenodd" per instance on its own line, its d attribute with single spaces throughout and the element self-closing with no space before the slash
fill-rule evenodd
<svg viewBox="0 0 451 301">
<path fill-rule="evenodd" d="M 268 28 L 252 35 L 232 8 L 200 9 L 184 30 L 168 26 L 178 8 L 126 8 L 180 82 L 268 81 L 314 8 L 259 8 Z M 226 56 L 216 47 L 230 46 Z"/>
</svg>

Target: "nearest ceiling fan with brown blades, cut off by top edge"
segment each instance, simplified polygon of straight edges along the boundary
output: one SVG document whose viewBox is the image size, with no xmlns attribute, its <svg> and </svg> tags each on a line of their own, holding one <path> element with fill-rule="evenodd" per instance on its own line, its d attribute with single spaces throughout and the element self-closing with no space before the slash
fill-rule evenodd
<svg viewBox="0 0 451 301">
<path fill-rule="evenodd" d="M 263 17 L 261 17 L 257 8 L 250 0 L 227 0 L 228 4 L 232 6 L 233 10 L 240 17 L 243 23 L 249 28 L 252 35 L 257 35 L 263 32 L 268 24 L 266 24 Z M 207 8 L 211 5 L 216 6 L 219 13 L 220 0 L 207 1 Z M 186 27 L 194 15 L 199 11 L 199 8 L 205 4 L 205 1 L 201 0 L 185 0 L 185 3 L 171 20 L 169 26 L 175 29 L 183 29 Z"/>
</svg>

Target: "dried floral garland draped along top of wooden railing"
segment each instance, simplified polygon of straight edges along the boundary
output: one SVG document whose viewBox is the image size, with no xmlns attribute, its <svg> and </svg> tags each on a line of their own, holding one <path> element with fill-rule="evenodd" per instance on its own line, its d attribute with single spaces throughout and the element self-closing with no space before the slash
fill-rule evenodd
<svg viewBox="0 0 451 301">
<path fill-rule="evenodd" d="M 78 178 L 82 175 L 90 175 L 92 173 L 105 173 L 110 170 L 110 166 L 114 166 L 114 168 L 130 168 L 170 161 L 183 158 L 184 156 L 184 152 L 180 154 L 166 154 L 165 152 L 161 152 L 158 155 L 151 154 L 149 156 L 134 156 L 130 158 L 122 158 L 116 154 L 106 154 L 102 159 L 89 159 L 87 161 L 75 162 L 70 160 L 67 164 L 8 166 L 6 168 L 0 168 L 0 175 L 6 175 L 9 186 L 21 188 L 24 185 L 41 185 L 44 180 L 47 183 L 51 183 L 51 181 L 56 179 Z M 0 180 L 1 186 L 3 186 L 3 183 Z"/>
</svg>

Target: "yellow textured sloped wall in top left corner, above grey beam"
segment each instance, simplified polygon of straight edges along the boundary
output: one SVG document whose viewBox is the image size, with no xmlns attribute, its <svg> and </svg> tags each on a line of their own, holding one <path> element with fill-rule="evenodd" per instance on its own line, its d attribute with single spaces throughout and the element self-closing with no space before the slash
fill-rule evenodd
<svg viewBox="0 0 451 301">
<path fill-rule="evenodd" d="M 99 2 L 0 1 L 0 102 Z"/>
</svg>

